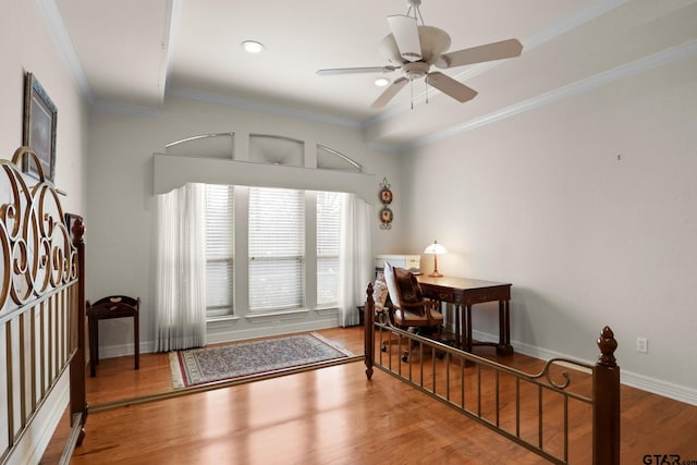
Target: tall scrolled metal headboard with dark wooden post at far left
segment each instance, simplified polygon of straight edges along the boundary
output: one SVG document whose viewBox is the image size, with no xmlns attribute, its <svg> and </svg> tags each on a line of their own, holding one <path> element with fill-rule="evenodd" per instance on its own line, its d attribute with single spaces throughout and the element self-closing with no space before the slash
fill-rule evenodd
<svg viewBox="0 0 697 465">
<path fill-rule="evenodd" d="M 38 180 L 19 169 L 27 158 Z M 42 428 L 54 426 L 69 376 L 71 441 L 84 436 L 83 233 L 32 148 L 0 160 L 0 464 L 40 458 L 50 439 Z"/>
</svg>

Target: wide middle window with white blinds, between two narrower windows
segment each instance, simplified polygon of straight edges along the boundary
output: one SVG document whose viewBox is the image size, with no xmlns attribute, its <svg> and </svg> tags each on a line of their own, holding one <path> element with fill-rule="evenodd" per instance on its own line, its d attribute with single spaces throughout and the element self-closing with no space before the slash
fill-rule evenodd
<svg viewBox="0 0 697 465">
<path fill-rule="evenodd" d="M 249 310 L 305 304 L 305 193 L 249 188 Z"/>
</svg>

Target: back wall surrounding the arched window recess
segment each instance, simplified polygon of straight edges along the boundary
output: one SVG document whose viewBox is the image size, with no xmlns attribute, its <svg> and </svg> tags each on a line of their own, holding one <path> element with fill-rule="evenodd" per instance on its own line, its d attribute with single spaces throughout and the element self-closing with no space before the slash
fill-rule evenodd
<svg viewBox="0 0 697 465">
<path fill-rule="evenodd" d="M 283 135 L 339 150 L 363 164 L 366 173 L 376 175 L 376 205 L 379 204 L 379 182 L 399 172 L 398 156 L 366 149 L 358 127 L 172 96 L 166 98 L 158 114 L 94 111 L 87 184 L 87 298 L 95 301 L 118 293 L 140 296 L 144 351 L 151 350 L 154 341 L 156 201 L 152 154 L 163 152 L 164 145 L 170 142 L 219 132 L 234 132 L 239 140 L 249 133 Z M 398 180 L 394 183 L 399 186 Z M 376 211 L 376 250 L 391 252 L 400 246 L 395 241 L 400 237 L 399 221 L 398 217 L 395 230 L 379 231 Z M 215 327 L 223 331 L 219 325 Z M 101 321 L 99 335 L 103 356 L 123 354 L 132 347 L 132 321 Z"/>
</svg>

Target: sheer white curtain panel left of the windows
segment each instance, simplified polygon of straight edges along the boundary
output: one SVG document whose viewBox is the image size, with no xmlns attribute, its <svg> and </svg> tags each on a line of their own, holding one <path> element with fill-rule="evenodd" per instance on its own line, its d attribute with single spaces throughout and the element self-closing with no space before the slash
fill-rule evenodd
<svg viewBox="0 0 697 465">
<path fill-rule="evenodd" d="M 206 345 L 206 188 L 186 184 L 157 199 L 155 350 Z"/>
</svg>

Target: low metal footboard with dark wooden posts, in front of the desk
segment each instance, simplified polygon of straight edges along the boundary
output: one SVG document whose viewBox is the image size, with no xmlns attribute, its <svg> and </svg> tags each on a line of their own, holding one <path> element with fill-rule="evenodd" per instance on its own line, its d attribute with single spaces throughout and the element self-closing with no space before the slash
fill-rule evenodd
<svg viewBox="0 0 697 465">
<path fill-rule="evenodd" d="M 528 374 L 403 331 L 387 318 L 375 321 L 372 284 L 367 294 L 368 379 L 377 367 L 551 463 L 571 463 L 573 452 L 587 455 L 584 448 L 592 448 L 596 465 L 620 463 L 620 369 L 609 328 L 598 340 L 596 365 L 554 358 Z M 591 433 L 570 444 L 570 431 L 588 425 Z"/>
</svg>

